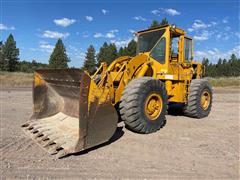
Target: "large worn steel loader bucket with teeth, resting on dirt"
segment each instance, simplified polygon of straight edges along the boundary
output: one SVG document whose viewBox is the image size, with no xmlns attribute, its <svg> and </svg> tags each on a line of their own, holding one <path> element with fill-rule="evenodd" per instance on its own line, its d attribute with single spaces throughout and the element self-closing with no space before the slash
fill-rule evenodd
<svg viewBox="0 0 240 180">
<path fill-rule="evenodd" d="M 108 89 L 99 89 L 80 69 L 37 70 L 34 110 L 23 130 L 58 157 L 108 141 L 118 116 Z"/>
</svg>

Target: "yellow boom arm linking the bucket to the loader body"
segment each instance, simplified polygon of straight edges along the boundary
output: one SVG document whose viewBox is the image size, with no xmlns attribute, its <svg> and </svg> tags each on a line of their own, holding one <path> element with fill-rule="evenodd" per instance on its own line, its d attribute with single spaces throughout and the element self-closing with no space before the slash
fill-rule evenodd
<svg viewBox="0 0 240 180">
<path fill-rule="evenodd" d="M 122 92 L 128 82 L 134 78 L 142 77 L 149 69 L 148 56 L 145 54 L 135 57 L 123 56 L 116 59 L 108 68 L 106 63 L 102 63 L 93 79 L 100 75 L 101 79 L 97 83 L 100 89 L 108 89 L 112 104 L 116 105 L 120 99 Z"/>
</svg>

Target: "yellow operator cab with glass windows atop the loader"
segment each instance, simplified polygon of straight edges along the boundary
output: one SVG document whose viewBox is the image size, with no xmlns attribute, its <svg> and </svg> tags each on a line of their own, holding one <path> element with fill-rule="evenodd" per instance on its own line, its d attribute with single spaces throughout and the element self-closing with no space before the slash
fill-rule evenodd
<svg viewBox="0 0 240 180">
<path fill-rule="evenodd" d="M 166 51 L 171 62 L 190 63 L 193 60 L 192 39 L 185 36 L 184 30 L 171 25 L 147 29 L 136 33 L 137 54 L 150 53 L 159 63 L 166 63 Z M 166 37 L 170 37 L 167 46 Z"/>
</svg>

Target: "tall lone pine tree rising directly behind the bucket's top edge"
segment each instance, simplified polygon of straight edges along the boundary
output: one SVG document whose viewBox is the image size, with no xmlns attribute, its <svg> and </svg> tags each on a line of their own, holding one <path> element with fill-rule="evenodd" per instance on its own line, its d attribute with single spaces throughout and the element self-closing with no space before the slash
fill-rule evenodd
<svg viewBox="0 0 240 180">
<path fill-rule="evenodd" d="M 65 46 L 61 39 L 58 39 L 55 48 L 49 59 L 50 68 L 68 68 L 70 59 L 67 56 Z"/>
</svg>

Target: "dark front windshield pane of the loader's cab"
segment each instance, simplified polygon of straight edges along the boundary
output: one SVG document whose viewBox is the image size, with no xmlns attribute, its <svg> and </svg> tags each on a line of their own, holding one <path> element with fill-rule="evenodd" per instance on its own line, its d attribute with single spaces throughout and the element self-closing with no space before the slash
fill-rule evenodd
<svg viewBox="0 0 240 180">
<path fill-rule="evenodd" d="M 141 34 L 138 37 L 137 53 L 149 52 L 164 32 L 165 29 Z"/>
</svg>

